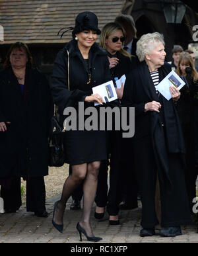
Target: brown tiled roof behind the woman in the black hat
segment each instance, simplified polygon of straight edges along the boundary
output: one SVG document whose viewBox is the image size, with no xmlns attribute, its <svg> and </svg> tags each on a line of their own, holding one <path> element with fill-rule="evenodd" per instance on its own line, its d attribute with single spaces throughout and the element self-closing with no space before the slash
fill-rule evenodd
<svg viewBox="0 0 198 256">
<path fill-rule="evenodd" d="M 62 40 L 57 32 L 74 26 L 78 13 L 94 12 L 101 29 L 121 13 L 123 3 L 117 0 L 0 0 L 0 25 L 4 28 L 4 42 L 0 44 L 68 42 L 71 31 L 65 33 Z"/>
</svg>

